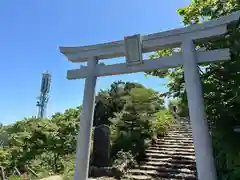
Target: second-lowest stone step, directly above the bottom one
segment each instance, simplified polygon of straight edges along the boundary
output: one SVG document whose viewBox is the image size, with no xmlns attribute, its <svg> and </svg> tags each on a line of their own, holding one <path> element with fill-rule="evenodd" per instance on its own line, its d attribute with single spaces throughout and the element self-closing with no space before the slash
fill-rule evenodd
<svg viewBox="0 0 240 180">
<path fill-rule="evenodd" d="M 146 167 L 148 166 L 153 167 L 153 168 L 186 168 L 186 169 L 190 169 L 190 170 L 196 170 L 196 164 L 173 164 L 173 163 L 169 163 L 169 162 L 154 162 L 154 161 L 149 161 L 149 162 L 144 162 L 142 165 L 140 165 L 141 167 Z"/>
</svg>

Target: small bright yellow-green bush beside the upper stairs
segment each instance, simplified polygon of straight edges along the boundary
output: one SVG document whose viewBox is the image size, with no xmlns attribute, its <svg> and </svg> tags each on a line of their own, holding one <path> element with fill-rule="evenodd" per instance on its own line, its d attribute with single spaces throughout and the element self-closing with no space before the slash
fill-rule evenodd
<svg viewBox="0 0 240 180">
<path fill-rule="evenodd" d="M 160 110 L 156 114 L 156 119 L 151 124 L 152 135 L 157 137 L 165 135 L 172 123 L 172 114 L 167 110 Z"/>
</svg>

